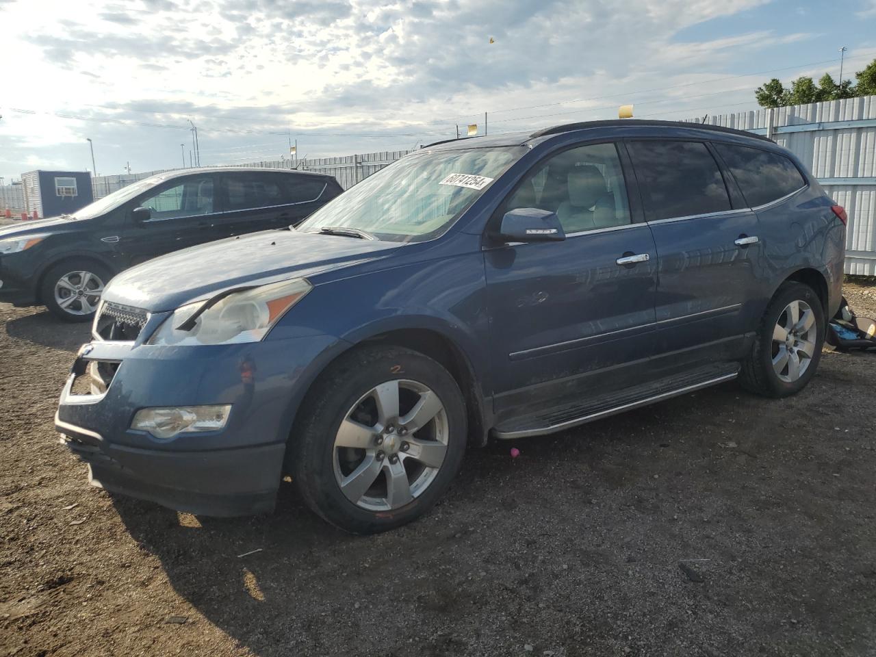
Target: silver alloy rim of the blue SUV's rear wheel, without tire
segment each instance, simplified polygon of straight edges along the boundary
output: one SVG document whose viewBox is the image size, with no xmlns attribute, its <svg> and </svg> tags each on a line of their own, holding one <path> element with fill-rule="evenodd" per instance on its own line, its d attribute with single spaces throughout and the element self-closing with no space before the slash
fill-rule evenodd
<svg viewBox="0 0 876 657">
<path fill-rule="evenodd" d="M 794 383 L 809 369 L 818 338 L 816 315 L 806 301 L 791 301 L 773 329 L 773 370 L 785 383 Z"/>
</svg>

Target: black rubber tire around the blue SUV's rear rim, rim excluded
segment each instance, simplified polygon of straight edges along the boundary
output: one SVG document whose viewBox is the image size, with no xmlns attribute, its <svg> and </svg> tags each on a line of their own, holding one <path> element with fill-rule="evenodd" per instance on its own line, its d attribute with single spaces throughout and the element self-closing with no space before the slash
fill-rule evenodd
<svg viewBox="0 0 876 657">
<path fill-rule="evenodd" d="M 784 312 L 785 307 L 794 300 L 805 301 L 812 308 L 812 312 L 816 315 L 818 334 L 816 337 L 815 353 L 812 355 L 812 362 L 809 364 L 809 367 L 806 368 L 801 378 L 792 383 L 786 383 L 779 378 L 779 375 L 773 369 L 773 329 L 779 321 L 782 312 Z M 779 292 L 776 293 L 767 307 L 759 336 L 761 348 L 759 350 L 759 363 L 757 366 L 761 368 L 762 380 L 773 396 L 787 397 L 796 394 L 806 387 L 809 379 L 815 376 L 818 364 L 821 361 L 826 329 L 827 323 L 824 320 L 822 300 L 819 299 L 815 290 L 802 283 L 786 283 L 781 286 Z"/>
</svg>

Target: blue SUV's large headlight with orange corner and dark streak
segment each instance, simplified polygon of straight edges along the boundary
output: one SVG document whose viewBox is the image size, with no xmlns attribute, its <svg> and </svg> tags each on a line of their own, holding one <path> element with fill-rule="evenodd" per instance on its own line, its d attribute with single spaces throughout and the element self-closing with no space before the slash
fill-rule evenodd
<svg viewBox="0 0 876 657">
<path fill-rule="evenodd" d="M 177 308 L 147 344 L 258 343 L 312 288 L 307 279 L 284 280 L 230 293 L 206 310 L 210 301 L 190 303 Z"/>
</svg>

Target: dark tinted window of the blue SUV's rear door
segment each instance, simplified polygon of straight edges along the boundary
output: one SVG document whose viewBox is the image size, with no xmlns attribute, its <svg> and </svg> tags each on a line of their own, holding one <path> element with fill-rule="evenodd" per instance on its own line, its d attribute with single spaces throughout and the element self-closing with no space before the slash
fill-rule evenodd
<svg viewBox="0 0 876 657">
<path fill-rule="evenodd" d="M 702 142 L 633 141 L 629 150 L 648 221 L 731 209 L 721 170 Z"/>
</svg>

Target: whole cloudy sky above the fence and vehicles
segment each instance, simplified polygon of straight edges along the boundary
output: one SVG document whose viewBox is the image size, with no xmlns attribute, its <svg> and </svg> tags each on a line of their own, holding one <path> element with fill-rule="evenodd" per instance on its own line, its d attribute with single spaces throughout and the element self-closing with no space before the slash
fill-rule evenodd
<svg viewBox="0 0 876 657">
<path fill-rule="evenodd" d="M 408 150 L 757 109 L 876 59 L 876 0 L 0 0 L 0 176 Z"/>
</svg>

